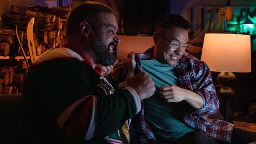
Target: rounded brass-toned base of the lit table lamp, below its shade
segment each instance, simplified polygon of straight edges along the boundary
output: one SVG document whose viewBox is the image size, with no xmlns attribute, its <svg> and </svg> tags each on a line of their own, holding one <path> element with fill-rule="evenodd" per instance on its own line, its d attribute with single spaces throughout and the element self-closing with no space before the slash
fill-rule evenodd
<svg viewBox="0 0 256 144">
<path fill-rule="evenodd" d="M 225 121 L 232 123 L 231 96 L 234 96 L 235 92 L 230 88 L 230 85 L 236 80 L 236 76 L 232 72 L 221 72 L 217 79 L 223 85 L 217 92 L 221 101 L 220 113 Z"/>
</svg>

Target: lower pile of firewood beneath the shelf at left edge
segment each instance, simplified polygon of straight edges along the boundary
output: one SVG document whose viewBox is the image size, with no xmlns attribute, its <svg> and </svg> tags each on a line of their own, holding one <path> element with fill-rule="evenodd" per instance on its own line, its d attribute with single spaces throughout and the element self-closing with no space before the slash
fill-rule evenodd
<svg viewBox="0 0 256 144">
<path fill-rule="evenodd" d="M 24 63 L 25 64 L 25 63 Z M 22 93 L 25 80 L 24 66 L 0 66 L 0 94 Z"/>
</svg>

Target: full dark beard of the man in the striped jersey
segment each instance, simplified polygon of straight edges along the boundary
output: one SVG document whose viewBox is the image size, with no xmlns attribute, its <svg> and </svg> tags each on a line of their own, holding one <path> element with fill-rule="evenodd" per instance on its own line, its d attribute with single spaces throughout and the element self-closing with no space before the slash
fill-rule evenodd
<svg viewBox="0 0 256 144">
<path fill-rule="evenodd" d="M 116 46 L 113 43 L 110 43 L 108 46 L 106 46 L 101 40 L 100 38 L 96 38 L 93 43 L 92 43 L 92 47 L 93 47 L 93 52 L 96 56 L 97 59 L 97 63 L 100 63 L 103 66 L 109 66 L 112 65 L 115 60 L 116 60 L 116 47 L 113 48 L 113 53 L 109 53 L 109 46 L 113 45 Z"/>
</svg>

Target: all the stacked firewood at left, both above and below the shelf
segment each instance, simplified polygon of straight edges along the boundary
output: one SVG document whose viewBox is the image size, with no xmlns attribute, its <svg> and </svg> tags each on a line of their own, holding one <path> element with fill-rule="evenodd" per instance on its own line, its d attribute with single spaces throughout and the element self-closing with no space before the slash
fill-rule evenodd
<svg viewBox="0 0 256 144">
<path fill-rule="evenodd" d="M 15 24 L 19 16 L 17 29 L 25 54 L 29 56 L 27 25 L 34 17 L 34 45 L 37 56 L 49 48 L 58 48 L 65 43 L 65 22 L 71 6 L 19 7 L 12 5 L 10 12 L 3 15 L 3 27 L 0 28 L 0 56 L 21 56 L 21 48 L 16 38 Z M 28 67 L 23 61 L 18 66 L 0 66 L 0 94 L 22 93 Z"/>
</svg>

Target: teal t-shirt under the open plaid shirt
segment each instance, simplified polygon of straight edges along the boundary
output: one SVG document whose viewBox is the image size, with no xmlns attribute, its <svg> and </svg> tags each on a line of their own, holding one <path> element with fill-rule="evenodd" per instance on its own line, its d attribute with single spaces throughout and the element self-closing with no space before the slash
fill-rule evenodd
<svg viewBox="0 0 256 144">
<path fill-rule="evenodd" d="M 193 131 L 184 121 L 187 103 L 185 101 L 168 103 L 159 96 L 160 86 L 178 85 L 174 66 L 162 64 L 156 59 L 141 60 L 141 62 L 142 72 L 151 76 L 156 86 L 154 95 L 144 100 L 145 120 L 157 141 L 174 142 Z"/>
</svg>

